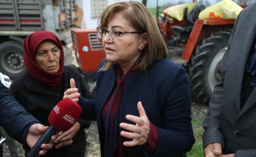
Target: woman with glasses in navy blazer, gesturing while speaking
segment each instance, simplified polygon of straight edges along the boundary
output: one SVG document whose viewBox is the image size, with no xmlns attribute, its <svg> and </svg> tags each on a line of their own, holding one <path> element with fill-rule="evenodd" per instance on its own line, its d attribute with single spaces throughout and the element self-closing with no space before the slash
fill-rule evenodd
<svg viewBox="0 0 256 157">
<path fill-rule="evenodd" d="M 135 1 L 108 6 L 97 27 L 106 58 L 97 73 L 96 99 L 64 93 L 96 120 L 101 156 L 186 156 L 195 143 L 185 69 L 167 58 L 150 11 Z"/>
</svg>

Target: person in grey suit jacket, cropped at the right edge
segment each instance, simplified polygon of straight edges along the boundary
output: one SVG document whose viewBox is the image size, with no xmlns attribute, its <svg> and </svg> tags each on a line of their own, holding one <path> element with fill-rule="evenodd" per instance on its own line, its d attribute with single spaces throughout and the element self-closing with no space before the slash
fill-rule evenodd
<svg viewBox="0 0 256 157">
<path fill-rule="evenodd" d="M 237 16 L 218 68 L 203 120 L 205 157 L 256 156 L 255 8 L 256 2 Z"/>
</svg>

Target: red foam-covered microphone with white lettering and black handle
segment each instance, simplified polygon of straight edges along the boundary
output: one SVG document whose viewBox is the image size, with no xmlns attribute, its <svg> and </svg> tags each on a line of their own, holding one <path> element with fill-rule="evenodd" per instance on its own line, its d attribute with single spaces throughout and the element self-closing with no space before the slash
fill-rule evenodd
<svg viewBox="0 0 256 157">
<path fill-rule="evenodd" d="M 28 157 L 37 157 L 42 150 L 41 145 L 50 142 L 58 131 L 68 131 L 78 120 L 82 109 L 70 98 L 62 99 L 52 110 L 48 117 L 49 128 L 39 138 L 33 148 L 28 152 Z"/>
</svg>

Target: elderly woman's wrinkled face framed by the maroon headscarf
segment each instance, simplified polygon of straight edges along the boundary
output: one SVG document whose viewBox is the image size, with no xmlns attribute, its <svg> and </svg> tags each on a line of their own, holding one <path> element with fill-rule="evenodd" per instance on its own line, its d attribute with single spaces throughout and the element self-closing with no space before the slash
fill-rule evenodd
<svg viewBox="0 0 256 157">
<path fill-rule="evenodd" d="M 35 55 L 37 65 L 49 73 L 57 73 L 59 70 L 60 52 L 52 41 L 44 41 L 39 45 Z"/>
</svg>

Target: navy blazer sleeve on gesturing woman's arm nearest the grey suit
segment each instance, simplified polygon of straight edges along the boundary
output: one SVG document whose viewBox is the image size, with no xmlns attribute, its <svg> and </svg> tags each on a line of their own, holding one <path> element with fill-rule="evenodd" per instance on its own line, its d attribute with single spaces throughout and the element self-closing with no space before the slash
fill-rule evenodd
<svg viewBox="0 0 256 157">
<path fill-rule="evenodd" d="M 195 143 L 191 124 L 191 96 L 188 76 L 184 68 L 178 67 L 166 85 L 164 106 L 161 113 L 163 128 L 159 128 L 159 140 L 154 155 L 144 149 L 150 157 L 179 156 L 189 152 Z"/>
</svg>

